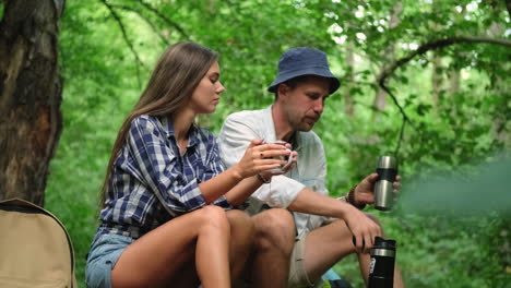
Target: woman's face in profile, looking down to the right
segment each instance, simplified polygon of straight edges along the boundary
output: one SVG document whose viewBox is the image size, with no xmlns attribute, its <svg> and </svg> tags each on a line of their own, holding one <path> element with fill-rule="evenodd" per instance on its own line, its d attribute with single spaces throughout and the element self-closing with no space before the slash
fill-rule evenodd
<svg viewBox="0 0 511 288">
<path fill-rule="evenodd" d="M 219 101 L 219 95 L 225 87 L 219 82 L 218 62 L 214 62 L 195 91 L 193 91 L 190 106 L 195 113 L 212 113 Z"/>
</svg>

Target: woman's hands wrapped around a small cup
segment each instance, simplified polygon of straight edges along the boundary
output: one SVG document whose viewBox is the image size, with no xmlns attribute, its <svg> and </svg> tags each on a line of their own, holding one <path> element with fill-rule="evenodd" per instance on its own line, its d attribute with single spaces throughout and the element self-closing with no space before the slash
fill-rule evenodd
<svg viewBox="0 0 511 288">
<path fill-rule="evenodd" d="M 241 178 L 251 177 L 265 170 L 278 169 L 287 164 L 286 160 L 280 159 L 276 156 L 296 158 L 296 152 L 293 153 L 286 145 L 275 143 L 263 144 L 262 140 L 252 140 L 243 157 L 235 167 Z"/>
</svg>

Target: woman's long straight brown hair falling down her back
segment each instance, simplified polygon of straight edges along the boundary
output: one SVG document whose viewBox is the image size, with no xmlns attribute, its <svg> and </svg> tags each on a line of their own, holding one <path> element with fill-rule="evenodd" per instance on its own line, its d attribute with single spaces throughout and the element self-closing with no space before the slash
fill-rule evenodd
<svg viewBox="0 0 511 288">
<path fill-rule="evenodd" d="M 194 43 L 177 43 L 159 58 L 139 101 L 122 123 L 108 161 L 99 206 L 105 207 L 112 165 L 124 145 L 131 121 L 141 115 L 173 116 L 182 108 L 218 55 Z"/>
</svg>

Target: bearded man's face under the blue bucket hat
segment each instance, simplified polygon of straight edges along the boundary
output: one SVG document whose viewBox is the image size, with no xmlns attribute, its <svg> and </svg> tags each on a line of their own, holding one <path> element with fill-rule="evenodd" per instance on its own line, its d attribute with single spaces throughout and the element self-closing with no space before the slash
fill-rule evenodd
<svg viewBox="0 0 511 288">
<path fill-rule="evenodd" d="M 310 131 L 314 127 L 323 112 L 329 89 L 330 80 L 319 76 L 307 77 L 295 88 L 286 84 L 280 86 L 278 100 L 294 131 Z"/>
</svg>

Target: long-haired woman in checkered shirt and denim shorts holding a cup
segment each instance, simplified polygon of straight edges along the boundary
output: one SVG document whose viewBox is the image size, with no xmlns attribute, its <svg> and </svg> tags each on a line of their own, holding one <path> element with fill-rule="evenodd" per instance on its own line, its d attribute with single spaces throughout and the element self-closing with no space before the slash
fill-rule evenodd
<svg viewBox="0 0 511 288">
<path fill-rule="evenodd" d="M 296 152 L 254 140 L 223 171 L 215 137 L 193 124 L 214 112 L 219 75 L 216 52 L 197 44 L 178 43 L 159 59 L 114 146 L 88 287 L 230 287 L 240 274 L 253 225 L 230 208 L 285 164 L 271 157 Z"/>
</svg>

